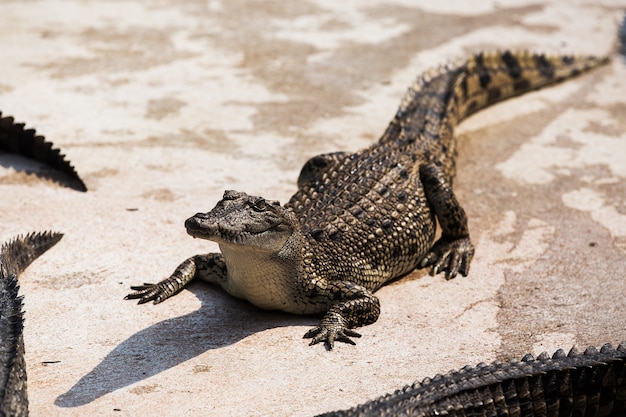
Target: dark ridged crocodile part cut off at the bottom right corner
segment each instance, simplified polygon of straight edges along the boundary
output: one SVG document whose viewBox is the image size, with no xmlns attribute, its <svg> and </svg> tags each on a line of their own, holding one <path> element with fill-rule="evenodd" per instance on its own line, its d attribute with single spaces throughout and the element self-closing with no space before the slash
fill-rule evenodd
<svg viewBox="0 0 626 417">
<path fill-rule="evenodd" d="M 626 346 L 466 366 L 319 417 L 624 416 Z"/>
</svg>

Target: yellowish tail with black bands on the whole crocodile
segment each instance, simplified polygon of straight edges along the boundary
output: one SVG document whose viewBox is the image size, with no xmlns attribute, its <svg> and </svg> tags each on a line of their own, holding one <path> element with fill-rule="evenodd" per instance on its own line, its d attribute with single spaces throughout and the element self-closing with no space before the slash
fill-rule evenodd
<svg viewBox="0 0 626 417">
<path fill-rule="evenodd" d="M 485 52 L 427 71 L 409 87 L 381 144 L 424 142 L 441 147 L 439 162 L 455 174 L 454 127 L 500 100 L 574 77 L 608 62 L 594 56 L 554 56 L 527 51 Z M 418 141 L 419 139 L 419 141 Z"/>
</svg>

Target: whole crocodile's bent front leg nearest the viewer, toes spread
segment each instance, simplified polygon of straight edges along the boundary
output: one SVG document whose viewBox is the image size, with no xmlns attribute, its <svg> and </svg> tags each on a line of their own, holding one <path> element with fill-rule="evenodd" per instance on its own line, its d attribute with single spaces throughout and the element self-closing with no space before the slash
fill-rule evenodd
<svg viewBox="0 0 626 417">
<path fill-rule="evenodd" d="M 380 302 L 367 288 L 349 281 L 329 281 L 318 284 L 315 291 L 320 289 L 320 295 L 338 302 L 331 305 L 318 326 L 304 335 L 313 339 L 310 345 L 324 342 L 328 350 L 333 349 L 335 341 L 354 345 L 350 337 L 361 335 L 351 329 L 378 320 Z"/>
</svg>

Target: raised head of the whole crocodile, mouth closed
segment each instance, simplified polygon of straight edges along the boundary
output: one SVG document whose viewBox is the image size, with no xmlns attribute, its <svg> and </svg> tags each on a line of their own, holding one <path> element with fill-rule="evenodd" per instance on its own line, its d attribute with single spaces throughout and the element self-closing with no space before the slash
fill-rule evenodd
<svg viewBox="0 0 626 417">
<path fill-rule="evenodd" d="M 275 252 L 293 234 L 297 220 L 278 201 L 229 190 L 211 211 L 187 219 L 185 227 L 191 236 L 220 245 Z"/>
</svg>

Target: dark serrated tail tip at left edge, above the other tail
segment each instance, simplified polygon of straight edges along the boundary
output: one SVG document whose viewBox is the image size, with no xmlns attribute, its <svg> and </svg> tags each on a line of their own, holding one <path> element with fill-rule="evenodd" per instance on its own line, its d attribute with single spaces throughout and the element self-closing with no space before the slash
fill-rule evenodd
<svg viewBox="0 0 626 417">
<path fill-rule="evenodd" d="M 68 181 L 64 182 L 67 186 L 77 191 L 87 191 L 85 183 L 59 149 L 53 148 L 52 143 L 46 142 L 34 129 L 25 129 L 23 123 L 15 123 L 12 117 L 2 117 L 2 112 L 0 112 L 0 149 L 45 163 L 67 176 Z M 36 175 L 60 182 L 50 174 Z"/>
</svg>

